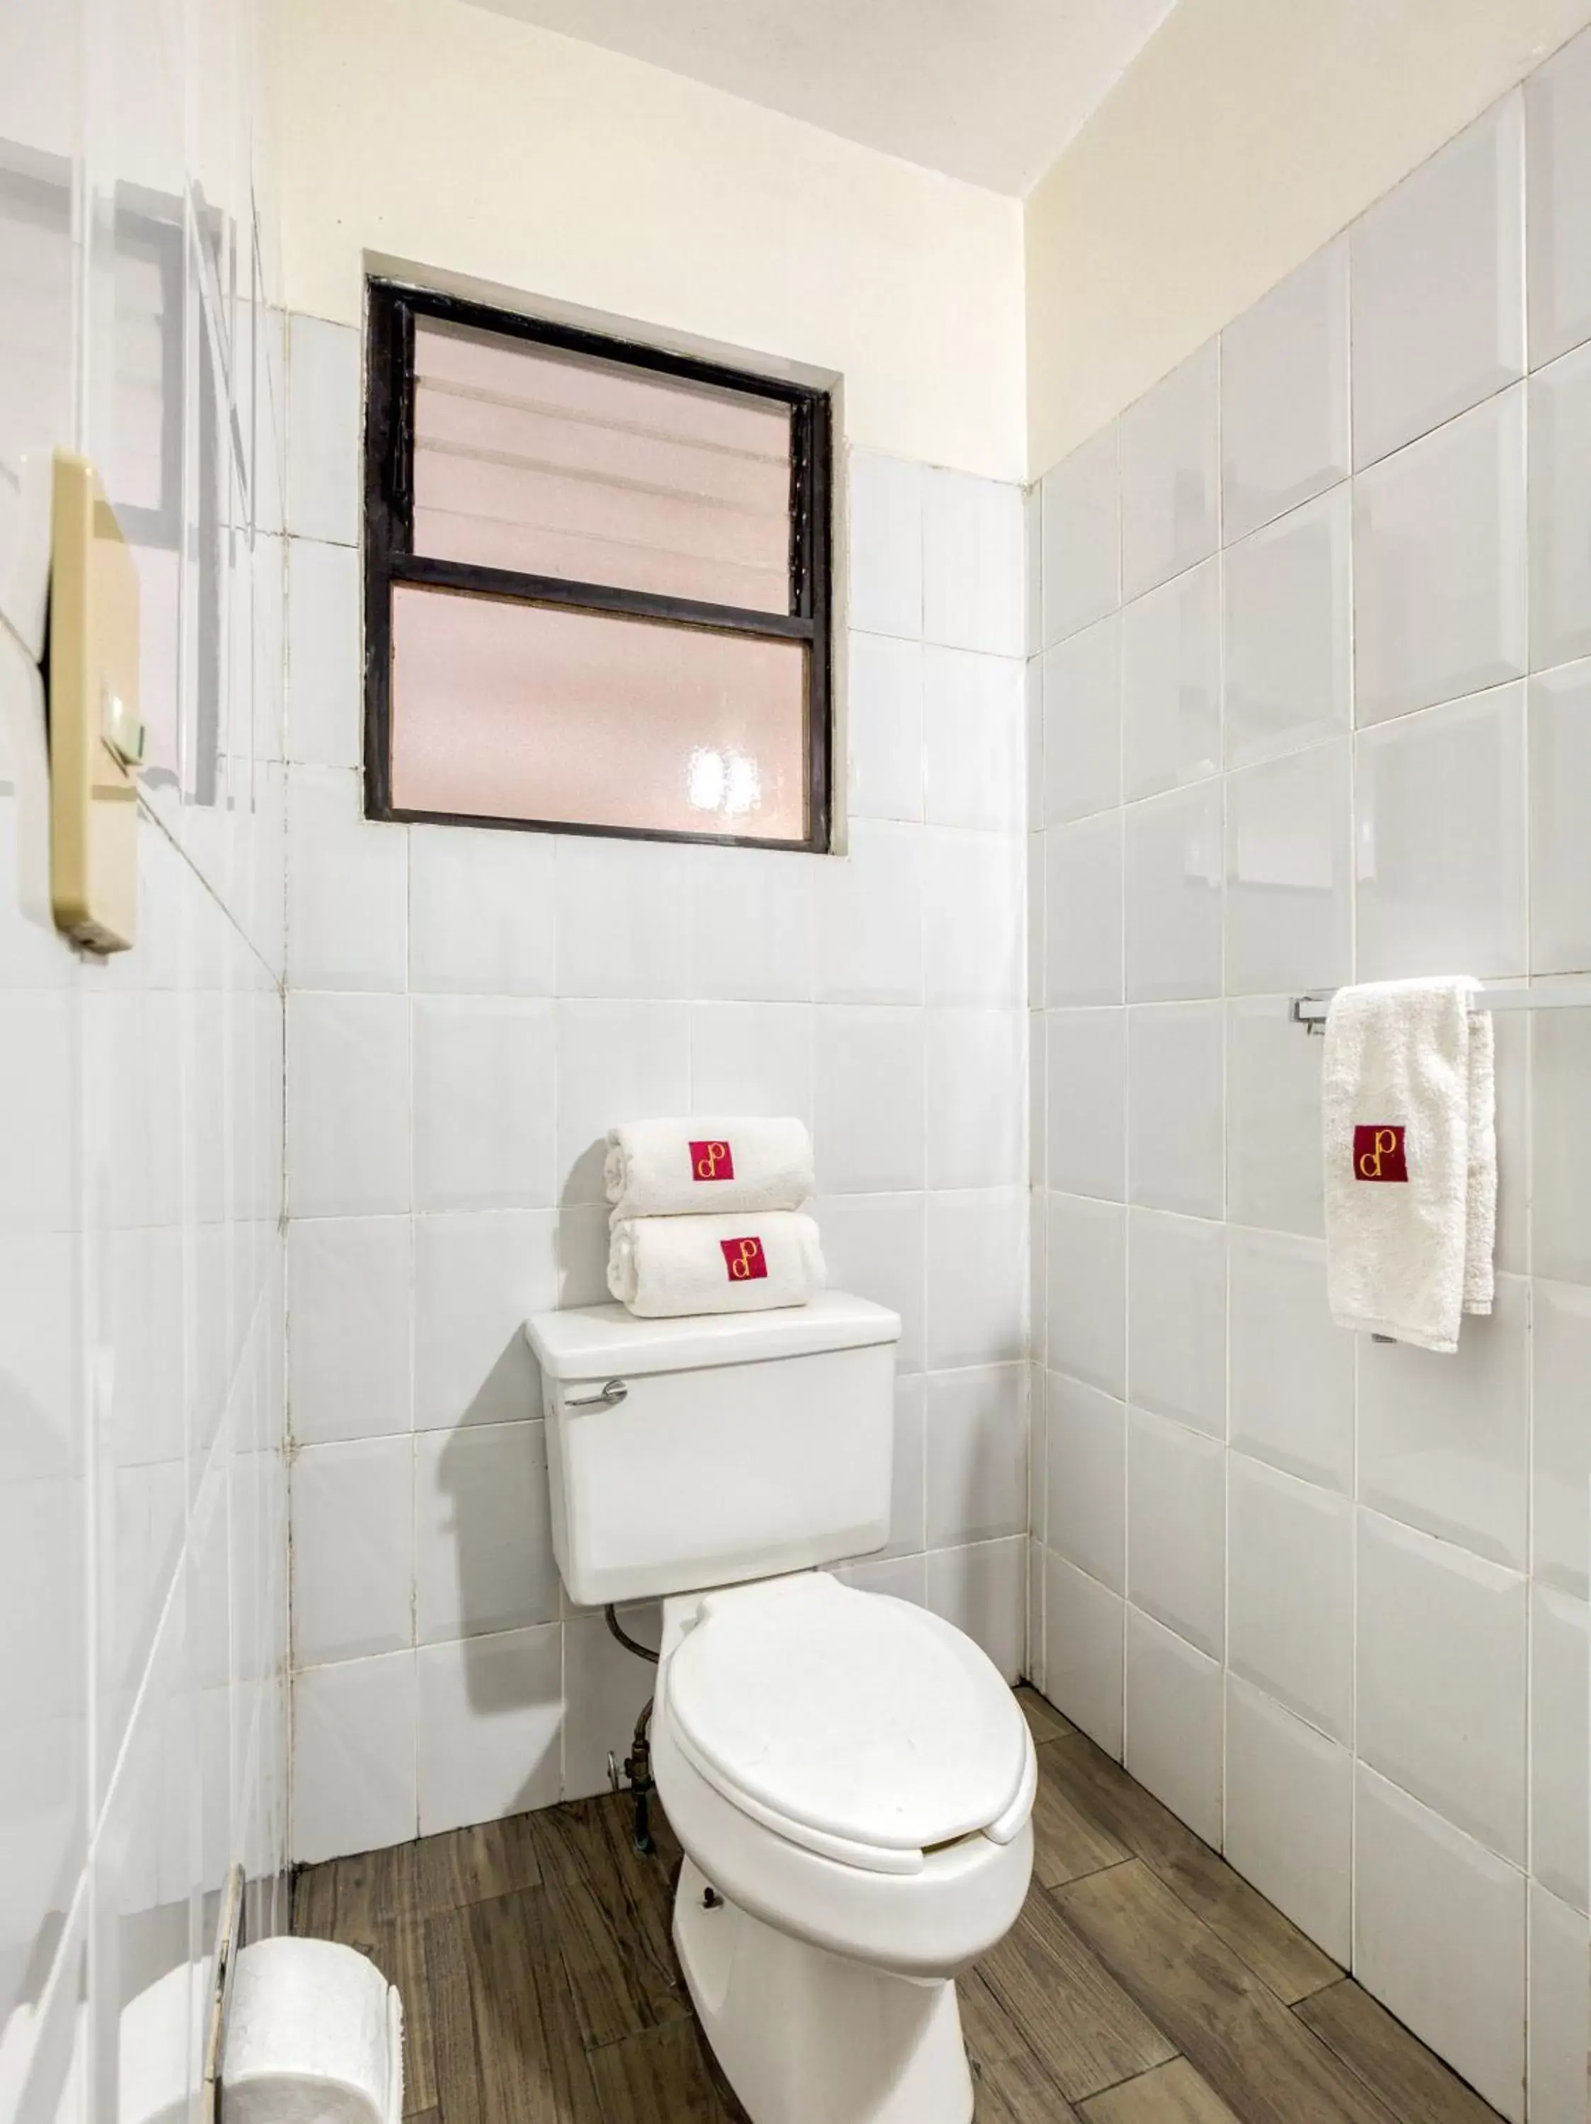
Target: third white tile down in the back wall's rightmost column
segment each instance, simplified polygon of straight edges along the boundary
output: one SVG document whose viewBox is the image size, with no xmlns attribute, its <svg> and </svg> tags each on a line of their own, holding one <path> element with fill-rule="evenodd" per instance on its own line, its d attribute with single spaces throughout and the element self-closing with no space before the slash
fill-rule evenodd
<svg viewBox="0 0 1591 2124">
<path fill-rule="evenodd" d="M 1005 833 L 941 826 L 922 852 L 922 960 L 928 1003 L 1022 1003 L 1022 850 Z"/>
</svg>

